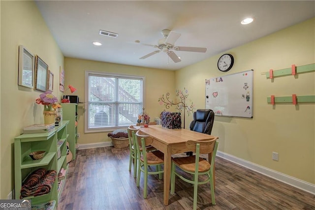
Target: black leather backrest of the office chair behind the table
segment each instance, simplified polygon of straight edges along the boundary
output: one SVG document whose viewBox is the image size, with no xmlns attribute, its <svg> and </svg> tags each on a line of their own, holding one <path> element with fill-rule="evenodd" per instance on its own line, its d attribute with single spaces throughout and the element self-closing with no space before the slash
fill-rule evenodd
<svg viewBox="0 0 315 210">
<path fill-rule="evenodd" d="M 193 112 L 193 120 L 189 128 L 191 131 L 210 135 L 214 120 L 215 112 L 212 109 L 197 109 Z"/>
</svg>

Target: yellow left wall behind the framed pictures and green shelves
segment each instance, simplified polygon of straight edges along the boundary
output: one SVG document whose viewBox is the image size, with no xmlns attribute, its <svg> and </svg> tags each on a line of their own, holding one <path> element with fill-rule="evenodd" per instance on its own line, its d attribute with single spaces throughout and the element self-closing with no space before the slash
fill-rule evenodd
<svg viewBox="0 0 315 210">
<path fill-rule="evenodd" d="M 50 34 L 34 1 L 0 1 L 0 199 L 14 188 L 14 138 L 23 127 L 43 123 L 43 106 L 35 104 L 42 92 L 18 86 L 19 45 L 37 54 L 54 73 L 54 95 L 59 96 L 59 67 L 63 54 Z"/>
</svg>

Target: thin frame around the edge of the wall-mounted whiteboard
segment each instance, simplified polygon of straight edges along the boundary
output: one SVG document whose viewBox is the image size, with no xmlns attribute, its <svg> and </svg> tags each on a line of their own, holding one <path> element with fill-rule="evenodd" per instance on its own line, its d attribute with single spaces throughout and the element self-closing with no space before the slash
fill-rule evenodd
<svg viewBox="0 0 315 210">
<path fill-rule="evenodd" d="M 251 94 L 251 101 L 250 101 L 250 108 L 247 109 L 247 110 L 250 110 L 250 115 L 249 116 L 241 116 L 241 115 L 238 115 L 238 114 L 224 114 L 221 112 L 218 113 L 216 112 L 216 109 L 213 109 L 213 107 L 209 107 L 210 106 L 210 103 L 207 102 L 208 98 L 210 97 L 210 95 L 208 94 L 208 91 L 207 91 L 207 85 L 208 87 L 210 86 L 210 81 L 211 80 L 214 80 L 214 79 L 217 79 L 217 78 L 224 78 L 224 77 L 228 77 L 228 76 L 232 76 L 232 75 L 235 75 L 235 74 L 243 74 L 245 72 L 251 72 L 252 73 L 252 87 L 250 87 L 249 89 L 252 91 L 252 94 Z M 232 74 L 227 74 L 227 75 L 221 75 L 221 76 L 217 76 L 217 77 L 213 77 L 213 78 L 210 78 L 210 79 L 206 79 L 206 82 L 205 82 L 205 93 L 206 93 L 206 98 L 205 98 L 205 106 L 206 108 L 210 108 L 210 109 L 213 109 L 213 111 L 215 112 L 215 115 L 216 116 L 224 116 L 224 117 L 242 117 L 242 118 L 253 118 L 253 86 L 254 86 L 254 83 L 253 83 L 253 70 L 246 70 L 246 71 L 241 71 L 241 72 L 236 72 L 236 73 L 232 73 Z M 209 84 L 207 84 L 207 80 L 209 81 Z M 208 94 L 208 95 L 207 95 Z M 208 97 L 208 98 L 207 98 Z M 246 111 L 247 111 L 246 110 Z"/>
</svg>

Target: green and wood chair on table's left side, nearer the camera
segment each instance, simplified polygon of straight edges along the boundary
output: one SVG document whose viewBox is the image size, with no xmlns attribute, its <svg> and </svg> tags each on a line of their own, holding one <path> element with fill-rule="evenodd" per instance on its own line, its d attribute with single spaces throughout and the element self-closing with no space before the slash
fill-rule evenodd
<svg viewBox="0 0 315 210">
<path fill-rule="evenodd" d="M 132 133 L 134 133 L 132 131 Z M 148 175 L 158 175 L 159 179 L 162 179 L 161 165 L 164 163 L 164 154 L 159 150 L 148 150 L 153 142 L 151 136 L 141 134 L 141 131 L 137 131 L 135 134 L 135 144 L 138 154 L 138 174 L 137 174 L 137 187 L 140 185 L 140 174 L 144 174 L 144 186 L 143 186 L 143 198 L 147 198 L 148 191 Z M 140 145 L 142 152 L 140 151 Z M 145 149 L 143 149 L 145 148 Z M 156 166 L 156 171 L 149 171 L 149 167 Z"/>
</svg>

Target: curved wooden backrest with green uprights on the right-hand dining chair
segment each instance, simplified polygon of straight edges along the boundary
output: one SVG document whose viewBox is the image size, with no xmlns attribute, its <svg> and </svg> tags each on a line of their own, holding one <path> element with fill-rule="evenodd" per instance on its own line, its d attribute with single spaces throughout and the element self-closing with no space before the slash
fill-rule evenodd
<svg viewBox="0 0 315 210">
<path fill-rule="evenodd" d="M 212 158 L 211 158 L 211 171 L 213 171 L 214 163 L 215 163 L 215 158 L 217 155 L 217 149 L 219 142 L 217 141 L 218 137 L 214 137 L 213 139 L 210 140 L 188 140 L 186 141 L 186 147 L 190 150 L 196 153 L 196 171 L 198 169 L 198 160 L 199 160 L 199 155 L 200 154 L 209 154 L 212 153 Z"/>
</svg>

